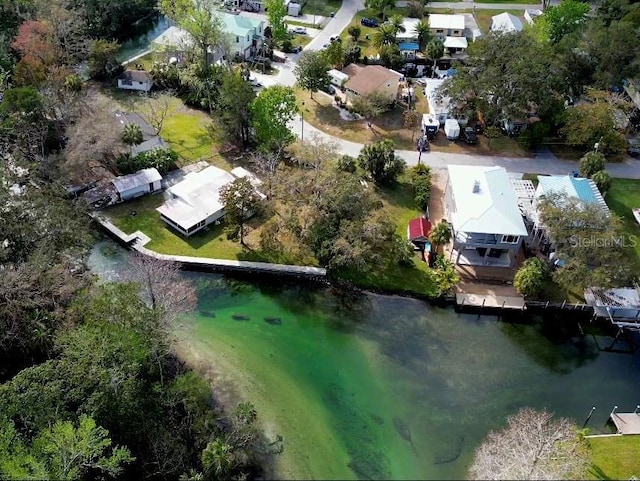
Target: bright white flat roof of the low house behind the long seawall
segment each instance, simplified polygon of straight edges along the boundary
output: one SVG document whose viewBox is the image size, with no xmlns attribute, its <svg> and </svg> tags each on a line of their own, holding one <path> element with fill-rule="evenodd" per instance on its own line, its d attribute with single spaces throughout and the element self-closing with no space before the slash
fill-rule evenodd
<svg viewBox="0 0 640 481">
<path fill-rule="evenodd" d="M 189 229 L 224 208 L 220 189 L 234 180 L 229 172 L 213 166 L 190 172 L 167 189 L 171 198 L 156 210 L 183 229 Z"/>
</svg>

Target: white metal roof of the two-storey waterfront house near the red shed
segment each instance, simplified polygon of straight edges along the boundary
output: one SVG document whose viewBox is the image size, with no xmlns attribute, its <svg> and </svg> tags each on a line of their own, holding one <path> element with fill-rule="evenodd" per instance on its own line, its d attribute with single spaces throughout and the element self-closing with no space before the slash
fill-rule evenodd
<svg viewBox="0 0 640 481">
<path fill-rule="evenodd" d="M 447 169 L 456 207 L 451 222 L 456 231 L 528 235 L 504 168 L 449 165 Z"/>
</svg>

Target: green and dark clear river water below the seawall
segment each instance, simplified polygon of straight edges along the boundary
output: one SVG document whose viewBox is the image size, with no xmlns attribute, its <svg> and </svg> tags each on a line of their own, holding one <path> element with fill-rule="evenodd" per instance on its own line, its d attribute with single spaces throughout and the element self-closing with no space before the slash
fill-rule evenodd
<svg viewBox="0 0 640 481">
<path fill-rule="evenodd" d="M 97 244 L 104 279 L 126 253 Z M 608 432 L 638 401 L 640 357 L 593 336 L 456 314 L 423 301 L 270 280 L 188 274 L 198 285 L 183 347 L 253 402 L 298 479 L 460 479 L 473 450 L 520 407 Z M 610 338 L 599 338 L 607 345 Z"/>
</svg>

